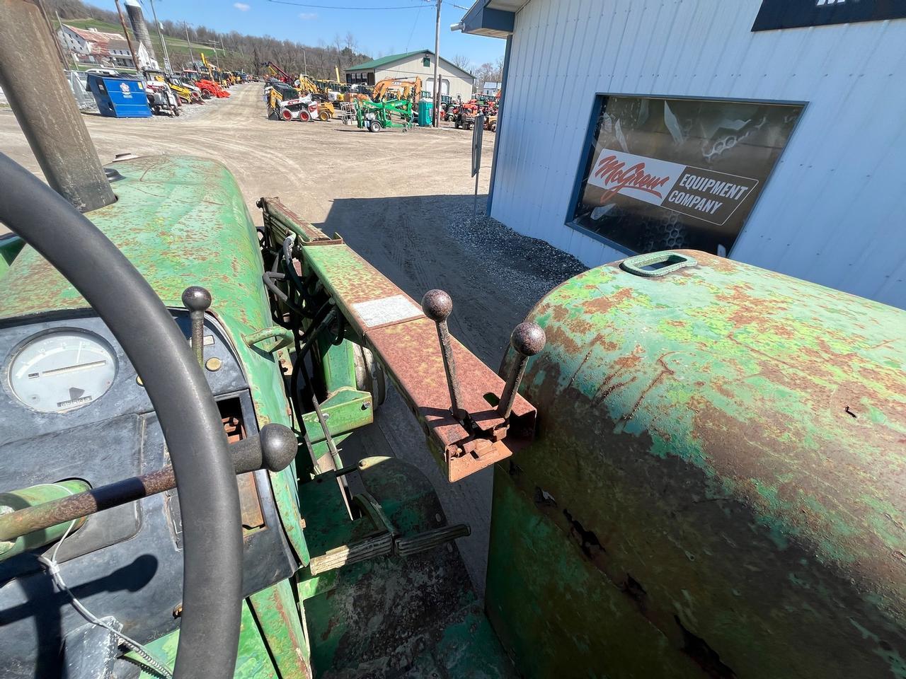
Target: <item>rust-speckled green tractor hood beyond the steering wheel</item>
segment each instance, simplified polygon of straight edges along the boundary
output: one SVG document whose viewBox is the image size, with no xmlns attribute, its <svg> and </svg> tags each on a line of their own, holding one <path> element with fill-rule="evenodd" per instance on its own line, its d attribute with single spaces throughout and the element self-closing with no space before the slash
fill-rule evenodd
<svg viewBox="0 0 906 679">
<path fill-rule="evenodd" d="M 226 167 L 187 156 L 134 158 L 111 167 L 123 177 L 112 182 L 117 202 L 85 216 L 135 264 L 160 299 L 181 307 L 182 291 L 203 285 L 218 316 L 229 308 L 240 324 L 255 325 L 259 319 L 248 318 L 245 305 L 231 303 L 255 296 L 264 304 L 265 297 L 255 227 Z M 5 276 L 0 319 L 87 307 L 82 295 L 26 246 Z"/>
</svg>

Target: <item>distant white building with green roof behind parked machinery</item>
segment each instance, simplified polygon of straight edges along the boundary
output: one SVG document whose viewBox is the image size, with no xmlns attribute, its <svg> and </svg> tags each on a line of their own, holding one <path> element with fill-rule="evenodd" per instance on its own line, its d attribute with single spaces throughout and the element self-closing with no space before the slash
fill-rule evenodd
<svg viewBox="0 0 906 679">
<path fill-rule="evenodd" d="M 466 101 L 472 98 L 472 91 L 475 89 L 474 75 L 463 71 L 443 57 L 440 57 L 438 71 L 441 94 L 449 95 L 453 99 L 461 97 Z M 412 80 L 416 77 L 421 78 L 424 91 L 434 92 L 434 53 L 430 50 L 391 54 L 346 69 L 346 82 L 352 85 L 360 83 L 373 85 L 387 78 Z"/>
</svg>

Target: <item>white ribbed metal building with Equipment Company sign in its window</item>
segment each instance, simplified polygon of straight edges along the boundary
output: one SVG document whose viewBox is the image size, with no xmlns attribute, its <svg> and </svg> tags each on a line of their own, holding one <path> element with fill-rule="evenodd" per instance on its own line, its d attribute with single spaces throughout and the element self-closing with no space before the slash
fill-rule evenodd
<svg viewBox="0 0 906 679">
<path fill-rule="evenodd" d="M 901 17 L 906 3 L 478 0 L 458 28 L 507 41 L 490 214 L 588 265 L 679 224 L 651 249 L 706 234 L 691 246 L 906 308 Z"/>
</svg>

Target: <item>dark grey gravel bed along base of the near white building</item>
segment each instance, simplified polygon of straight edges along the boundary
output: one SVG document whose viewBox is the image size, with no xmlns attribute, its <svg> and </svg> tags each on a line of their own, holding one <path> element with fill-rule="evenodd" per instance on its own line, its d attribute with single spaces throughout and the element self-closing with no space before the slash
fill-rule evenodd
<svg viewBox="0 0 906 679">
<path fill-rule="evenodd" d="M 546 241 L 517 234 L 487 215 L 463 215 L 450 222 L 450 234 L 477 265 L 494 271 L 502 287 L 535 301 L 588 267 Z"/>
</svg>

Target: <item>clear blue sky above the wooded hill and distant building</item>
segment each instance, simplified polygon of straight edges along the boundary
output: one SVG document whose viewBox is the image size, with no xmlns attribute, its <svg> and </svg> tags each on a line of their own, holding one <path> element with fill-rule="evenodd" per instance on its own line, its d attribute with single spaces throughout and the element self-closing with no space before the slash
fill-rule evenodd
<svg viewBox="0 0 906 679">
<path fill-rule="evenodd" d="M 91 0 L 89 0 L 91 1 Z M 293 2 L 296 0 L 283 0 Z M 238 31 L 253 35 L 270 34 L 275 38 L 316 45 L 331 43 L 333 36 L 348 31 L 356 36 L 362 52 L 375 56 L 434 49 L 435 5 L 429 0 L 299 0 L 288 5 L 268 0 L 155 0 L 158 18 L 206 25 L 216 31 Z M 503 56 L 504 41 L 479 35 L 464 35 L 449 30 L 466 14 L 472 0 L 444 0 L 440 12 L 440 55 L 451 59 L 467 55 L 475 65 L 495 62 Z M 107 3 L 104 3 L 106 5 Z M 113 5 L 111 2 L 110 5 Z M 146 14 L 148 0 L 144 0 Z M 319 5 L 319 6 L 302 6 Z M 378 9 L 400 7 L 406 9 Z M 328 8 L 329 7 L 329 8 Z M 358 7 L 343 10 L 339 7 Z M 369 9 L 363 9 L 369 7 Z"/>
</svg>

